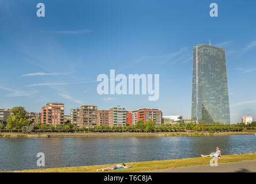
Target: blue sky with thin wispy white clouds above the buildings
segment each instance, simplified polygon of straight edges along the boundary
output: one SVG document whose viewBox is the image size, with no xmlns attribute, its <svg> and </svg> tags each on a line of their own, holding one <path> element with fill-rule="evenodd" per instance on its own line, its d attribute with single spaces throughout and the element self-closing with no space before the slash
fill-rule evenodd
<svg viewBox="0 0 256 184">
<path fill-rule="evenodd" d="M 36 16 L 36 5 L 46 17 Z M 209 5 L 219 5 L 219 17 Z M 255 1 L 0 0 L 0 106 L 65 103 L 191 116 L 193 46 L 227 52 L 231 121 L 256 117 Z M 160 74 L 160 97 L 99 95 L 97 75 Z"/>
</svg>

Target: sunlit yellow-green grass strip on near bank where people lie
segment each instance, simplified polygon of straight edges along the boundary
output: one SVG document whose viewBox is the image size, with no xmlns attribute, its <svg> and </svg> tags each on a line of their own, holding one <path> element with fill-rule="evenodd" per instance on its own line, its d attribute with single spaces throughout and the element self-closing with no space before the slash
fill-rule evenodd
<svg viewBox="0 0 256 184">
<path fill-rule="evenodd" d="M 131 162 L 125 163 L 133 167 L 115 170 L 115 171 L 105 171 L 105 173 L 122 173 L 122 172 L 140 172 L 140 171 L 150 171 L 164 168 L 174 168 L 174 167 L 186 167 L 186 166 L 199 166 L 209 164 L 211 158 L 187 158 L 187 159 L 175 159 L 175 160 L 156 160 L 149 162 Z M 230 162 L 239 162 L 245 160 L 256 160 L 256 153 L 251 154 L 238 154 L 238 155 L 223 155 L 221 159 L 218 160 L 218 163 L 230 163 Z M 94 173 L 97 168 L 108 167 L 113 164 L 100 165 L 100 166 L 81 166 L 81 167 L 61 167 L 61 168 L 43 168 L 36 170 L 24 170 L 24 171 L 15 171 L 21 173 Z"/>
</svg>

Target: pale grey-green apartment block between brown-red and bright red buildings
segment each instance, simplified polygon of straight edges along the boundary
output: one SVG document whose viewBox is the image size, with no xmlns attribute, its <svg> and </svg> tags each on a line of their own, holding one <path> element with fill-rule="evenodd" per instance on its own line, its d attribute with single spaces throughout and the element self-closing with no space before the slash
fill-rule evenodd
<svg viewBox="0 0 256 184">
<path fill-rule="evenodd" d="M 108 123 L 110 127 L 126 125 L 126 109 L 120 106 L 110 108 L 108 111 Z"/>
</svg>

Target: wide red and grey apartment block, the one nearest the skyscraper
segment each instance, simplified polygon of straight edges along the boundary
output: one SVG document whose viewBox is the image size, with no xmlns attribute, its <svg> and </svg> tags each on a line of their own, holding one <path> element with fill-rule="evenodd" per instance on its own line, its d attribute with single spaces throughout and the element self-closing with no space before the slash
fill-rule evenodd
<svg viewBox="0 0 256 184">
<path fill-rule="evenodd" d="M 133 125 L 135 125 L 139 120 L 143 120 L 144 123 L 153 120 L 156 125 L 161 125 L 162 121 L 162 112 L 160 109 L 156 108 L 140 108 L 137 110 L 133 110 Z"/>
</svg>

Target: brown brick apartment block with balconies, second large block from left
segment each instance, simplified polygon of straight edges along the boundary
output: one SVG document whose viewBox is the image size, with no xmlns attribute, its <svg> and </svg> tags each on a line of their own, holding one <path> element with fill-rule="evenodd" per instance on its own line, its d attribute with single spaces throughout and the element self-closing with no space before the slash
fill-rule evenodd
<svg viewBox="0 0 256 184">
<path fill-rule="evenodd" d="M 78 127 L 95 127 L 97 125 L 97 106 L 82 105 Z"/>
</svg>

